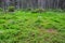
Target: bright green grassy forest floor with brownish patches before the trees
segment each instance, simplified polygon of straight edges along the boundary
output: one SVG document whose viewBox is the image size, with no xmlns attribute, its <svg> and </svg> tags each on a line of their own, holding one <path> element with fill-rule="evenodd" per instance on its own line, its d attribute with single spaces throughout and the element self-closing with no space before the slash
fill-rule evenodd
<svg viewBox="0 0 65 43">
<path fill-rule="evenodd" d="M 65 43 L 65 13 L 0 13 L 0 43 Z"/>
</svg>

